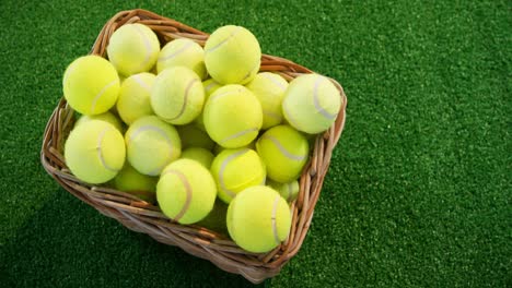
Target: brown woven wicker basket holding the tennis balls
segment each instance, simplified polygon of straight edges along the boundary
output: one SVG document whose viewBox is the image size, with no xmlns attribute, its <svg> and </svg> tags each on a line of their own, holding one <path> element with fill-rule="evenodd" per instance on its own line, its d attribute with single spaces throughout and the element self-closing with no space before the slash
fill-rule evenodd
<svg viewBox="0 0 512 288">
<path fill-rule="evenodd" d="M 126 23 L 135 22 L 151 27 L 162 45 L 175 38 L 189 38 L 203 46 L 208 38 L 208 34 L 175 20 L 144 10 L 131 10 L 119 12 L 105 24 L 91 53 L 105 57 L 106 46 L 114 31 Z M 268 55 L 261 57 L 260 71 L 279 73 L 288 81 L 303 73 L 312 73 L 309 69 L 289 60 Z M 195 256 L 211 261 L 226 272 L 241 274 L 252 283 L 260 283 L 279 274 L 282 266 L 296 254 L 310 227 L 333 149 L 345 123 L 347 98 L 341 86 L 334 80 L 333 83 L 339 89 L 342 103 L 338 118 L 329 130 L 315 140 L 311 160 L 300 179 L 299 197 L 291 204 L 293 216 L 289 238 L 268 253 L 249 253 L 238 248 L 225 235 L 196 225 L 184 226 L 170 220 L 158 206 L 137 196 L 107 187 L 91 185 L 77 179 L 67 168 L 62 156 L 65 140 L 74 123 L 74 111 L 63 97 L 46 127 L 40 160 L 46 171 L 67 191 L 129 229 L 148 233 L 162 243 L 177 245 Z"/>
</svg>

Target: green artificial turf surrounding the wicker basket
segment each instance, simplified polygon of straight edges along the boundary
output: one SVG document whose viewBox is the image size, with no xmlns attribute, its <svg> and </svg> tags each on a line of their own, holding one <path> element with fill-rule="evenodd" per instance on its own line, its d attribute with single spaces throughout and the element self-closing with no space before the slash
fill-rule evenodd
<svg viewBox="0 0 512 288">
<path fill-rule="evenodd" d="M 117 3 L 116 3 L 117 2 Z M 39 163 L 61 75 L 117 11 L 338 80 L 349 105 L 302 249 L 264 287 L 512 285 L 512 5 L 486 1 L 0 1 L 0 286 L 252 286 L 106 218 Z"/>
</svg>

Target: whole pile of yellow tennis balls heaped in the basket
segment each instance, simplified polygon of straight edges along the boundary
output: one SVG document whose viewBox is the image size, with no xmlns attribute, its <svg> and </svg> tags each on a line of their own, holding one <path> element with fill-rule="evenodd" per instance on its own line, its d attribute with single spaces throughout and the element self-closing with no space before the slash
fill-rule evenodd
<svg viewBox="0 0 512 288">
<path fill-rule="evenodd" d="M 65 72 L 65 98 L 82 115 L 65 145 L 70 171 L 179 224 L 226 229 L 246 251 L 275 249 L 290 232 L 309 140 L 333 124 L 340 98 L 318 74 L 258 73 L 260 59 L 241 26 L 218 28 L 205 47 L 161 48 L 148 26 L 123 25 L 107 59 L 80 57 Z"/>
</svg>

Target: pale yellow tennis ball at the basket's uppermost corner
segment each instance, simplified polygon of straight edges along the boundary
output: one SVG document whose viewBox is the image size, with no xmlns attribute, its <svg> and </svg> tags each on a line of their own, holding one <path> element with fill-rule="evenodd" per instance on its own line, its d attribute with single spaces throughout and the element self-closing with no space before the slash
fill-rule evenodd
<svg viewBox="0 0 512 288">
<path fill-rule="evenodd" d="M 159 57 L 160 43 L 148 26 L 125 24 L 112 34 L 106 50 L 117 71 L 129 76 L 151 70 Z"/>
</svg>

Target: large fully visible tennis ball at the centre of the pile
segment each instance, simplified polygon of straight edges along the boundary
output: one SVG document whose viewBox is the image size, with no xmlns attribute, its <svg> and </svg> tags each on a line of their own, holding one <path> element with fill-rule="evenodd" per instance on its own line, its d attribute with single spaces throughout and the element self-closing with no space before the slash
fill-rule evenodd
<svg viewBox="0 0 512 288">
<path fill-rule="evenodd" d="M 242 85 L 225 85 L 216 91 L 202 112 L 208 135 L 219 145 L 237 148 L 258 135 L 263 123 L 261 105 Z"/>
</svg>

